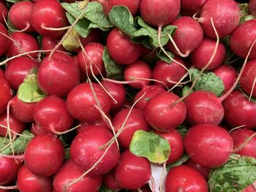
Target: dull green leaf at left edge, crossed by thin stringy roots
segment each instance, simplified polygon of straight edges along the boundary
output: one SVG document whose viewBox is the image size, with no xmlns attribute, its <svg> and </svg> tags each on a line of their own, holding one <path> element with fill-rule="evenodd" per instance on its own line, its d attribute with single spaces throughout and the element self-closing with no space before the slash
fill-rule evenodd
<svg viewBox="0 0 256 192">
<path fill-rule="evenodd" d="M 14 149 L 15 153 L 23 153 L 26 145 L 29 143 L 29 141 L 34 137 L 34 134 L 31 134 L 29 130 L 23 131 L 22 135 L 15 139 L 14 142 L 12 142 L 12 147 Z M 0 148 L 2 149 L 9 143 L 9 139 L 4 137 L 0 137 Z M 1 154 L 10 155 L 12 154 L 12 148 L 11 146 L 5 148 L 4 150 L 0 151 Z"/>
</svg>

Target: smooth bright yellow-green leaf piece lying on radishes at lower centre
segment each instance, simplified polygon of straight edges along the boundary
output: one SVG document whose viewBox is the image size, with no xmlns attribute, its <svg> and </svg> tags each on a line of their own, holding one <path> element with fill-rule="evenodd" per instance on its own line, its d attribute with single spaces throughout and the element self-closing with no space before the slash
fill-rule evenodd
<svg viewBox="0 0 256 192">
<path fill-rule="evenodd" d="M 148 158 L 155 164 L 165 163 L 170 155 L 170 145 L 167 139 L 154 134 L 153 131 L 135 131 L 129 150 L 135 155 Z"/>
</svg>

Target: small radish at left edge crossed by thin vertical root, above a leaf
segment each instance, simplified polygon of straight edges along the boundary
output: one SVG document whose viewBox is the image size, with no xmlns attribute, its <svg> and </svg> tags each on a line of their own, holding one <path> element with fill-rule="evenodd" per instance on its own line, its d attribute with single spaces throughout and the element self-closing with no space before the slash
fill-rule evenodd
<svg viewBox="0 0 256 192">
<path fill-rule="evenodd" d="M 15 133 L 21 133 L 26 127 L 25 123 L 17 120 L 12 114 L 9 117 L 10 129 Z M 3 113 L 0 115 L 0 136 L 5 137 L 7 135 L 7 114 Z M 2 127 L 5 126 L 5 127 Z M 11 135 L 14 133 L 11 132 Z"/>
</svg>

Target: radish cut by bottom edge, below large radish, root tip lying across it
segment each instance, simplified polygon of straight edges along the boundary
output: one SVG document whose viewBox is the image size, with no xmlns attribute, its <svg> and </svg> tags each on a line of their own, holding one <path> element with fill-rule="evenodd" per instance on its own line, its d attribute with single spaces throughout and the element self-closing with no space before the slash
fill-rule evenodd
<svg viewBox="0 0 256 192">
<path fill-rule="evenodd" d="M 68 160 L 59 172 L 56 173 L 53 180 L 54 191 L 56 192 L 97 192 L 99 191 L 100 185 L 102 183 L 102 176 L 89 176 L 86 175 L 83 179 L 79 180 L 77 183 L 65 187 L 73 180 L 78 179 L 83 174 L 83 171 L 76 166 L 73 161 Z"/>
</svg>

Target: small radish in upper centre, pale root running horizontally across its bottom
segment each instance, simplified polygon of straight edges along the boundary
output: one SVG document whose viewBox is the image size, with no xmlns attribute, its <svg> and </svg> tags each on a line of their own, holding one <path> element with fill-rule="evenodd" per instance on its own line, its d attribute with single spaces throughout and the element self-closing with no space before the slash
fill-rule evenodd
<svg viewBox="0 0 256 192">
<path fill-rule="evenodd" d="M 135 61 L 124 69 L 124 80 L 131 81 L 129 86 L 132 88 L 141 89 L 148 85 L 150 81 L 143 79 L 151 79 L 151 69 L 145 61 Z"/>
</svg>

